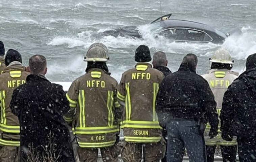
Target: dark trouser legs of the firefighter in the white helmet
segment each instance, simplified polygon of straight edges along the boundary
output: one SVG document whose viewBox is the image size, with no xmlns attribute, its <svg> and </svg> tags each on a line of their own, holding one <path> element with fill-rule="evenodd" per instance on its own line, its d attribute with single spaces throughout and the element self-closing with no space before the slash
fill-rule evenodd
<svg viewBox="0 0 256 162">
<path fill-rule="evenodd" d="M 206 145 L 207 162 L 214 161 L 216 146 Z M 221 146 L 221 153 L 223 162 L 236 162 L 237 145 L 235 146 Z"/>
</svg>

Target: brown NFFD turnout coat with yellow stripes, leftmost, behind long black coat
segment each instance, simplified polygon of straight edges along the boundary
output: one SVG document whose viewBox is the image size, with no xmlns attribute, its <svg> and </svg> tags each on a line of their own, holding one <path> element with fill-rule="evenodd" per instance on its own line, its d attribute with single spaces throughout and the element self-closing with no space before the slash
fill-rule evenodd
<svg viewBox="0 0 256 162">
<path fill-rule="evenodd" d="M 20 145 L 20 124 L 18 117 L 12 114 L 10 101 L 12 92 L 18 86 L 26 82 L 29 73 L 18 61 L 9 64 L 0 75 L 0 102 L 1 102 L 1 123 L 0 123 L 0 144 L 8 146 Z"/>
</svg>

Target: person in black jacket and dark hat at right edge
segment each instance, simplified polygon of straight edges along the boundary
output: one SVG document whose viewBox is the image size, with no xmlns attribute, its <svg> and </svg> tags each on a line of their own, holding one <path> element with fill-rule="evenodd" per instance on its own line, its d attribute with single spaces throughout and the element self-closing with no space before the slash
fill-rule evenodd
<svg viewBox="0 0 256 162">
<path fill-rule="evenodd" d="M 228 87 L 221 109 L 222 138 L 237 136 L 240 162 L 256 162 L 256 54 L 246 61 L 246 71 Z"/>
</svg>

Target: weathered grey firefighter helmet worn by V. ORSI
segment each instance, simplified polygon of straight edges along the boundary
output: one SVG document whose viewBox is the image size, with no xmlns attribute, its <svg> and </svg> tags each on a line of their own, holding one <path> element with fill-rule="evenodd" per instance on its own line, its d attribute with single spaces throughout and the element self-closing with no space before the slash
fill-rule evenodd
<svg viewBox="0 0 256 162">
<path fill-rule="evenodd" d="M 102 43 L 89 46 L 83 61 L 106 62 L 109 60 L 107 47 Z"/>
</svg>

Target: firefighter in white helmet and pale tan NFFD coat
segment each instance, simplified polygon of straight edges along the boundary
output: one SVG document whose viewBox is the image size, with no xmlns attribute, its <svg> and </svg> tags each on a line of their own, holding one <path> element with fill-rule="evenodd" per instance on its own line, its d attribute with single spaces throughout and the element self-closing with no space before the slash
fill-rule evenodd
<svg viewBox="0 0 256 162">
<path fill-rule="evenodd" d="M 208 82 L 217 103 L 217 112 L 220 115 L 222 108 L 222 99 L 224 93 L 227 91 L 228 86 L 238 76 L 238 72 L 231 71 L 234 61 L 231 60 L 231 56 L 228 51 L 220 48 L 210 58 L 211 69 L 207 74 L 202 75 Z M 221 146 L 223 162 L 235 162 L 237 143 L 234 138 L 232 141 L 225 141 L 221 138 L 220 125 L 218 128 L 218 135 L 212 139 L 208 134 L 210 131 L 209 123 L 205 129 L 205 144 L 207 162 L 214 161 L 214 153 L 216 145 Z"/>
</svg>

